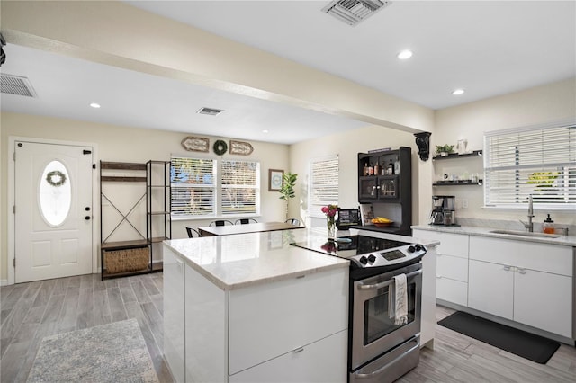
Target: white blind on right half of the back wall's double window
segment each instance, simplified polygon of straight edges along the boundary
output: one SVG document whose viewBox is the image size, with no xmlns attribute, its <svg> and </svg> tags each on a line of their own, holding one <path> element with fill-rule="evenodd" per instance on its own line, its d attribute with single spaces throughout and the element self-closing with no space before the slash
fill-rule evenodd
<svg viewBox="0 0 576 383">
<path fill-rule="evenodd" d="M 222 161 L 221 173 L 222 214 L 257 213 L 259 164 L 253 161 Z"/>
</svg>

